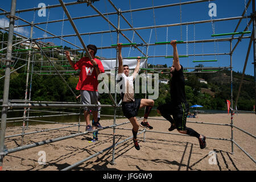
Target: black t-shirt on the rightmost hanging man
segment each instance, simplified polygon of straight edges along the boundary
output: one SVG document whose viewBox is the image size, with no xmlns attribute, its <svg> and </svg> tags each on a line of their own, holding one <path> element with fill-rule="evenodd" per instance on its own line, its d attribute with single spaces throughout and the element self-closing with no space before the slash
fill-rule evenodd
<svg viewBox="0 0 256 182">
<path fill-rule="evenodd" d="M 171 102 L 180 103 L 187 101 L 185 95 L 185 79 L 182 66 L 179 71 L 176 71 L 175 69 L 174 73 L 172 73 L 170 92 Z"/>
</svg>

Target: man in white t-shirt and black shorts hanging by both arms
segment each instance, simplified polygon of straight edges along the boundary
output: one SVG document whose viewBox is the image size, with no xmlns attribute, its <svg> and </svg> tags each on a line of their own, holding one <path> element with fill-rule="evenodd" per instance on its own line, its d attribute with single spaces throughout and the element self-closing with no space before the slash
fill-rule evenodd
<svg viewBox="0 0 256 182">
<path fill-rule="evenodd" d="M 129 66 L 123 65 L 123 59 L 122 59 L 122 43 L 117 44 L 118 47 L 118 75 L 122 77 L 123 85 L 125 85 L 125 93 L 121 93 L 122 97 L 122 110 L 123 115 L 125 115 L 126 118 L 129 119 L 131 122 L 131 125 L 133 125 L 133 142 L 134 147 L 139 150 L 139 143 L 137 140 L 137 133 L 139 130 L 139 123 L 137 121 L 137 114 L 138 110 L 144 106 L 146 106 L 145 114 L 143 122 L 141 122 L 142 127 L 146 127 L 147 129 L 153 129 L 152 126 L 150 126 L 147 122 L 147 117 L 154 106 L 154 101 L 151 99 L 145 99 L 145 98 L 134 98 L 134 86 L 133 81 L 137 77 L 139 73 L 139 66 L 141 63 L 141 57 L 138 56 L 137 58 L 137 65 L 134 69 L 133 75 L 129 76 Z"/>
</svg>

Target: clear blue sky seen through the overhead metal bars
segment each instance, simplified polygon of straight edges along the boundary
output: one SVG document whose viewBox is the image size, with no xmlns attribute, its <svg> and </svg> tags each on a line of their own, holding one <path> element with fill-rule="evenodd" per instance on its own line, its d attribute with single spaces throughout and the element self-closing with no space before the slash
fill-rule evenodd
<svg viewBox="0 0 256 182">
<path fill-rule="evenodd" d="M 150 1 L 150 0 L 127 0 L 127 1 L 120 1 L 120 0 L 112 0 L 114 5 L 118 8 L 120 8 L 122 11 L 130 10 L 131 9 L 138 9 L 143 7 L 150 7 L 152 6 L 152 3 L 154 3 L 154 6 L 159 5 L 168 5 L 172 3 L 179 3 L 179 2 L 187 2 L 188 0 L 173 0 L 173 1 L 167 1 L 167 0 L 161 0 L 161 1 Z M 216 0 L 211 1 L 216 3 L 217 6 L 217 16 L 213 19 L 220 19 L 220 18 L 229 18 L 233 16 L 241 16 L 243 13 L 243 10 L 245 9 L 245 2 L 247 3 L 249 0 Z M 64 0 L 65 3 L 67 2 L 74 2 L 74 0 Z M 19 1 L 17 0 L 16 9 L 22 10 L 22 9 L 28 9 L 32 7 L 38 7 L 39 3 L 45 3 L 46 5 L 56 5 L 59 4 L 59 1 L 43 1 L 43 0 L 35 0 L 35 1 Z M 98 2 L 95 2 L 93 4 L 98 10 L 101 11 L 101 13 L 109 13 L 109 12 L 115 12 L 114 8 L 110 5 L 110 3 L 107 0 L 100 0 Z M 194 3 L 191 5 L 183 5 L 181 6 L 173 6 L 173 7 L 165 7 L 162 9 L 155 9 L 155 20 L 154 20 L 154 14 L 153 10 L 145 10 L 145 11 L 135 11 L 133 13 L 124 13 L 123 15 L 133 26 L 136 27 L 146 27 L 146 26 L 154 26 L 156 25 L 162 25 L 162 24 L 172 24 L 172 23 L 180 23 L 180 11 L 181 11 L 181 22 L 194 22 L 199 20 L 209 20 L 210 16 L 208 15 L 208 11 L 210 10 L 209 2 L 203 2 L 203 3 Z M 10 11 L 11 7 L 11 0 L 5 1 L 4 3 L 1 3 L 0 6 L 2 9 L 5 9 L 7 11 Z M 91 7 L 87 7 L 86 4 L 80 4 L 80 5 L 73 5 L 73 6 L 67 6 L 69 13 L 71 14 L 72 18 L 75 18 L 77 16 L 86 16 L 86 15 L 95 15 L 97 14 L 96 11 L 94 11 Z M 247 15 L 250 15 L 252 12 L 252 5 L 250 4 Z M 34 20 L 34 11 L 29 11 L 25 13 L 16 14 L 17 16 L 20 16 L 23 19 L 28 20 L 31 22 Z M 48 16 L 49 15 L 49 16 Z M 3 26 L 5 16 L 0 16 L 0 26 Z M 65 16 L 67 18 L 67 16 Z M 117 27 L 117 15 L 109 15 L 109 20 Z M 61 7 L 57 7 L 54 9 L 46 10 L 46 16 L 39 17 L 38 11 L 35 12 L 35 23 L 38 22 L 46 22 L 48 20 L 56 20 L 56 19 L 63 19 L 63 9 Z M 249 22 L 250 19 L 243 19 L 242 23 L 240 24 L 240 27 L 237 31 L 243 31 L 244 28 L 247 26 L 247 21 Z M 6 19 L 7 21 L 7 19 Z M 112 26 L 110 26 L 103 18 L 101 17 L 95 17 L 95 18 L 86 18 L 86 19 L 79 19 L 74 20 L 78 30 L 80 33 L 86 33 L 86 32 L 96 32 L 96 31 L 108 31 L 108 30 L 114 30 Z M 155 23 L 154 23 L 155 22 Z M 16 22 L 19 25 L 25 24 L 22 21 Z M 225 32 L 233 32 L 236 28 L 238 23 L 238 20 L 227 20 L 227 21 L 221 21 L 214 23 L 214 30 L 216 34 L 221 34 Z M 75 31 L 71 27 L 71 24 L 68 21 L 65 21 L 64 24 L 62 22 L 57 23 L 48 23 L 47 24 L 47 31 L 52 32 L 52 34 L 55 35 L 61 35 L 61 31 L 63 28 L 63 35 L 68 34 L 75 34 Z M 46 24 L 41 24 L 39 27 L 46 28 Z M 121 18 L 121 28 L 130 28 L 128 24 Z M 181 31 L 182 28 L 182 31 Z M 195 32 L 194 32 L 195 30 Z M 249 26 L 249 30 L 252 31 L 252 23 Z M 29 36 L 30 27 L 22 27 L 18 28 L 18 31 L 20 34 Z M 168 34 L 167 34 L 167 28 L 154 28 L 152 29 L 146 29 L 146 30 L 138 30 L 138 33 L 142 36 L 142 38 L 150 43 L 155 42 L 166 42 L 166 39 L 168 38 L 168 41 L 172 39 L 182 40 L 186 41 L 193 41 L 195 40 L 203 40 L 203 39 L 213 39 L 212 33 L 212 23 L 202 23 L 202 24 L 193 24 L 188 25 L 188 36 L 187 36 L 187 26 L 174 26 L 174 27 L 168 27 Z M 42 38 L 44 36 L 45 32 L 38 30 L 37 28 L 34 29 L 34 38 Z M 133 31 L 123 31 L 123 34 L 125 34 L 130 40 L 133 39 Z M 151 35 L 151 36 L 150 36 Z M 246 34 L 246 36 L 249 36 L 250 34 Z M 47 35 L 51 36 L 51 35 Z M 217 38 L 229 38 L 230 36 L 221 36 Z M 237 37 L 237 35 L 235 36 Z M 216 38 L 216 39 L 217 39 Z M 85 44 L 95 44 L 97 47 L 101 46 L 110 46 L 111 44 L 117 43 L 117 34 L 115 32 L 112 32 L 111 34 L 96 34 L 96 35 L 84 35 L 82 36 L 82 39 L 84 40 Z M 71 48 L 75 48 L 71 44 L 61 42 L 60 39 L 47 39 L 49 42 L 53 42 L 56 45 L 60 45 L 63 43 L 64 46 L 68 46 Z M 77 46 L 81 46 L 79 39 L 76 37 L 67 37 L 65 40 L 68 40 L 69 42 L 77 44 Z M 125 38 L 120 36 L 120 42 L 122 43 L 129 43 Z M 134 43 L 142 43 L 142 40 L 135 34 L 134 36 Z M 236 44 L 237 40 L 233 41 L 233 47 Z M 243 39 L 240 44 L 238 44 L 236 50 L 233 53 L 233 70 L 234 71 L 240 71 L 242 72 L 243 65 L 245 63 L 245 57 L 247 48 L 249 46 L 249 39 Z M 145 53 L 146 48 L 140 47 L 140 49 Z M 189 44 L 188 47 L 186 44 L 179 44 L 178 45 L 178 51 L 180 55 L 186 55 L 187 51 L 189 54 L 199 54 L 199 53 L 228 53 L 230 51 L 229 42 L 219 42 L 219 43 L 196 43 L 196 44 Z M 137 51 L 133 48 L 123 48 L 123 56 L 141 56 L 142 53 Z M 98 50 L 97 52 L 98 56 L 104 56 L 107 58 L 113 58 L 115 57 L 115 49 L 103 49 Z M 166 45 L 163 46 L 150 46 L 148 49 L 148 55 L 149 56 L 158 56 L 158 55 L 172 55 L 172 47 L 170 45 L 167 46 L 166 51 Z M 183 67 L 195 67 L 198 65 L 198 63 L 192 63 L 193 60 L 212 60 L 217 59 L 217 62 L 211 62 L 211 63 L 203 63 L 204 67 L 228 67 L 230 65 L 230 56 L 229 55 L 219 55 L 219 56 L 190 56 L 185 58 L 180 58 L 180 63 L 183 65 Z M 251 52 L 249 56 L 249 61 L 247 63 L 246 67 L 246 74 L 247 75 L 254 75 L 254 68 L 253 64 L 253 46 L 251 47 Z M 172 64 L 171 59 L 164 59 L 164 58 L 149 58 L 148 63 L 151 64 L 167 64 L 170 66 Z"/>
</svg>

